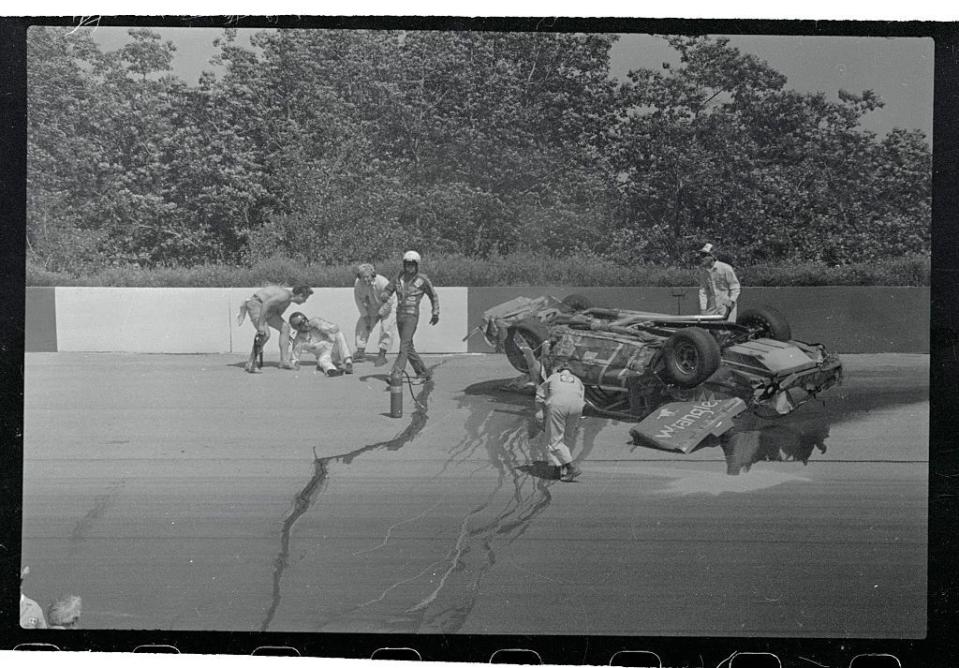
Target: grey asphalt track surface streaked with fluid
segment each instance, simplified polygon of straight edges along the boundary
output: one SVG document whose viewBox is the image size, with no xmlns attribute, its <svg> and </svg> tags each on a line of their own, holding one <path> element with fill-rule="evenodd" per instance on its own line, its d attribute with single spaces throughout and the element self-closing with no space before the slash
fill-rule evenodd
<svg viewBox="0 0 959 668">
<path fill-rule="evenodd" d="M 25 592 L 98 629 L 925 635 L 928 356 L 844 356 L 726 451 L 588 417 L 574 483 L 504 356 L 426 359 L 395 419 L 370 363 L 27 354 Z"/>
</svg>

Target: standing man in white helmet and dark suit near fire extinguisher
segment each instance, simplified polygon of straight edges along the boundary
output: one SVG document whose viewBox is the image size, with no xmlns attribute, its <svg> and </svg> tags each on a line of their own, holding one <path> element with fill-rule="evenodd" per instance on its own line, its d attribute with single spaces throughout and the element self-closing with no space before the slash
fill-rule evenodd
<svg viewBox="0 0 959 668">
<path fill-rule="evenodd" d="M 393 363 L 392 375 L 394 378 L 403 375 L 406 370 L 406 361 L 409 359 L 416 377 L 421 381 L 428 381 L 432 376 L 413 346 L 413 334 L 419 324 L 420 302 L 423 295 L 430 298 L 432 305 L 431 325 L 440 321 L 440 300 L 429 277 L 420 273 L 420 254 L 416 251 L 404 253 L 403 270 L 383 291 L 380 297 L 383 302 L 379 311 L 380 317 L 385 317 L 389 313 L 388 300 L 394 293 L 396 294 L 396 329 L 400 335 L 400 354 Z"/>
</svg>

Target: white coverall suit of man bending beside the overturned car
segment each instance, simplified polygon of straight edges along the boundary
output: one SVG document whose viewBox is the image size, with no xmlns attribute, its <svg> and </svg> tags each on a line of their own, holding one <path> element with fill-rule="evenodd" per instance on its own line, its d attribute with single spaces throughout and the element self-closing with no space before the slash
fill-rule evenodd
<svg viewBox="0 0 959 668">
<path fill-rule="evenodd" d="M 536 417 L 545 415 L 549 463 L 564 466 L 573 461 L 579 418 L 583 415 L 583 383 L 569 369 L 551 374 L 536 388 Z"/>
</svg>

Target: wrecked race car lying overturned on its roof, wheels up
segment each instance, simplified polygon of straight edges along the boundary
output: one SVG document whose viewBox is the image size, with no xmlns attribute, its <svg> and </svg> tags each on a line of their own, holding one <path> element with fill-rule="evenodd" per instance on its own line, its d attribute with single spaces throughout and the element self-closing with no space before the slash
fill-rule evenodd
<svg viewBox="0 0 959 668">
<path fill-rule="evenodd" d="M 842 380 L 839 357 L 792 339 L 770 307 L 718 315 L 672 316 L 593 307 L 581 295 L 519 298 L 484 314 L 487 341 L 529 372 L 563 358 L 598 414 L 639 420 L 635 442 L 689 452 L 735 426 L 750 410 L 785 415 Z"/>
</svg>

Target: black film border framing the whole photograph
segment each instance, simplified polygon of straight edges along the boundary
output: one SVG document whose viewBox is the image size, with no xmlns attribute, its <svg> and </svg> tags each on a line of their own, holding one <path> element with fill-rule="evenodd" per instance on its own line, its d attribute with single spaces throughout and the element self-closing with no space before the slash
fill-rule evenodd
<svg viewBox="0 0 959 668">
<path fill-rule="evenodd" d="M 7 213 L 2 252 L 7 290 L 0 343 L 7 353 L 2 358 L 3 417 L 0 435 L 0 649 L 30 645 L 53 645 L 61 651 L 134 652 L 149 646 L 174 648 L 185 654 L 250 655 L 260 648 L 292 648 L 300 656 L 369 659 L 384 648 L 415 651 L 424 661 L 487 663 L 497 652 L 521 649 L 535 652 L 543 663 L 568 665 L 655 665 L 643 662 L 652 655 L 662 666 L 771 665 L 775 656 L 782 666 L 892 665 L 945 666 L 959 661 L 959 649 L 952 631 L 953 609 L 949 601 L 957 589 L 953 554 L 956 547 L 956 490 L 952 480 L 959 476 L 956 449 L 959 433 L 956 411 L 956 378 L 959 372 L 959 243 L 950 225 L 959 211 L 956 184 L 959 155 L 956 124 L 959 81 L 959 39 L 955 23 L 816 22 L 765 20 L 643 20 L 571 18 L 362 18 L 249 17 L 229 21 L 225 17 L 103 17 L 100 25 L 155 27 L 240 28 L 406 28 L 541 30 L 588 32 L 651 32 L 698 34 L 770 34 L 901 36 L 935 39 L 934 183 L 933 183 L 933 278 L 932 349 L 930 387 L 930 475 L 929 475 L 929 581 L 927 591 L 928 633 L 926 638 L 769 638 L 769 637 L 656 637 L 642 636 L 492 636 L 492 635 L 401 635 L 401 634 L 293 634 L 282 632 L 217 631 L 38 631 L 20 629 L 15 615 L 19 593 L 21 525 L 19 503 L 22 493 L 22 360 L 25 229 L 25 30 L 29 25 L 75 25 L 61 18 L 0 18 L 0 133 L 2 188 L 0 204 Z M 12 382 L 11 382 L 12 379 Z M 641 574 L 637 574 L 641 577 Z M 652 602 L 651 605 L 655 605 Z M 561 612 L 561 611 L 560 611 Z M 38 648 L 39 649 L 39 648 Z M 48 648 L 49 649 L 49 648 Z M 618 657 L 618 659 L 617 659 Z M 889 658 L 892 657 L 892 658 Z M 635 663 L 627 663 L 629 661 Z M 766 661 L 767 664 L 752 663 Z"/>
</svg>

